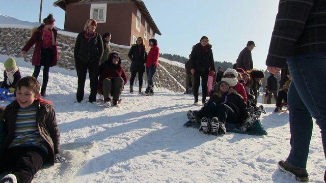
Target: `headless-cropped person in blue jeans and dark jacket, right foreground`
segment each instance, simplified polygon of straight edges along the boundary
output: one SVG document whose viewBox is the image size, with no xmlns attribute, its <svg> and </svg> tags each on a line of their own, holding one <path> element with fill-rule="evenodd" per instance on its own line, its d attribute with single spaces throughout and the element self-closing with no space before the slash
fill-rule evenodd
<svg viewBox="0 0 326 183">
<path fill-rule="evenodd" d="M 281 0 L 266 59 L 267 70 L 273 74 L 279 73 L 287 62 L 293 78 L 287 101 L 291 151 L 286 161 L 280 161 L 278 166 L 300 181 L 309 181 L 306 165 L 312 117 L 321 130 L 326 157 L 326 90 L 323 89 L 326 85 L 325 12 L 324 0 Z"/>
</svg>

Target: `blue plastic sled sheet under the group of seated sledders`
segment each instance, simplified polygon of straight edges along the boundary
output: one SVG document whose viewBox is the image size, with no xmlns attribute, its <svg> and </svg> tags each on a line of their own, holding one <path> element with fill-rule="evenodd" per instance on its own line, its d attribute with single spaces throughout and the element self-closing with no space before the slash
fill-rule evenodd
<svg viewBox="0 0 326 183">
<path fill-rule="evenodd" d="M 183 124 L 185 127 L 192 127 L 199 129 L 200 123 L 194 123 L 192 121 L 187 121 L 185 124 Z M 239 130 L 239 127 L 235 124 L 227 123 L 225 125 L 227 132 L 233 132 L 233 133 L 240 133 L 240 134 L 248 134 L 248 135 L 267 135 L 267 132 L 265 131 L 264 127 L 261 125 L 260 119 L 256 120 L 253 126 L 248 128 L 247 131 L 242 132 Z"/>
</svg>

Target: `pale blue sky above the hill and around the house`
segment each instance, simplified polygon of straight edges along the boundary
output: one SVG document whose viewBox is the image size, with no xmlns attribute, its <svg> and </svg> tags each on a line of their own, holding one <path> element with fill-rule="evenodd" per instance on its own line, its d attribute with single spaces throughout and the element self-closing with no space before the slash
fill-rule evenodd
<svg viewBox="0 0 326 183">
<path fill-rule="evenodd" d="M 53 13 L 64 28 L 65 12 L 43 0 L 42 19 Z M 270 36 L 278 11 L 277 0 L 143 0 L 162 36 L 156 35 L 162 53 L 188 56 L 194 44 L 207 36 L 216 61 L 235 63 L 247 41 L 255 41 L 254 67 L 265 69 Z M 38 21 L 40 1 L 0 0 L 0 14 Z"/>
</svg>

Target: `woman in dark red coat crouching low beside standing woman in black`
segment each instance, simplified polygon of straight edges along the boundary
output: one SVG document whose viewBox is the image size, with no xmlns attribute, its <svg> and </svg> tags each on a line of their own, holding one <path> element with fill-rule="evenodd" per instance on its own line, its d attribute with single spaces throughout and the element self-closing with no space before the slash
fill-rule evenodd
<svg viewBox="0 0 326 183">
<path fill-rule="evenodd" d="M 118 53 L 110 53 L 108 59 L 99 66 L 98 73 L 97 93 L 103 95 L 104 106 L 110 107 L 111 103 L 113 106 L 117 106 L 121 103 L 120 95 L 128 81 Z"/>
</svg>

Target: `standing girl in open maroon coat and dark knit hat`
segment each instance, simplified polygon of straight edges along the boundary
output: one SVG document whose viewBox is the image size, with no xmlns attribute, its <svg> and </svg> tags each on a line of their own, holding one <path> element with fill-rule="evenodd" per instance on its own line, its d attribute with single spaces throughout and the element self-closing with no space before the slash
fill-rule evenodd
<svg viewBox="0 0 326 183">
<path fill-rule="evenodd" d="M 55 29 L 56 20 L 52 14 L 43 19 L 43 23 L 31 30 L 31 39 L 22 48 L 21 56 L 35 44 L 32 57 L 32 65 L 34 66 L 33 76 L 37 79 L 40 74 L 41 66 L 43 66 L 43 82 L 41 88 L 41 96 L 46 96 L 46 86 L 49 80 L 50 67 L 56 66 L 59 58 L 57 48 L 57 29 Z"/>
</svg>

